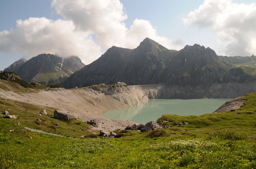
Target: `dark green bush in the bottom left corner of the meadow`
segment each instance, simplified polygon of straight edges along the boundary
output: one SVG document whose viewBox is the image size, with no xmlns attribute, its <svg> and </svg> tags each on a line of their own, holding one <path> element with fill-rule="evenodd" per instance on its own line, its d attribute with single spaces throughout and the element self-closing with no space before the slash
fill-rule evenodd
<svg viewBox="0 0 256 169">
<path fill-rule="evenodd" d="M 15 154 L 6 149 L 0 149 L 0 168 L 11 168 L 15 164 Z"/>
</svg>

